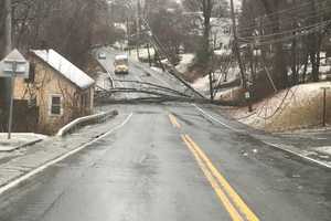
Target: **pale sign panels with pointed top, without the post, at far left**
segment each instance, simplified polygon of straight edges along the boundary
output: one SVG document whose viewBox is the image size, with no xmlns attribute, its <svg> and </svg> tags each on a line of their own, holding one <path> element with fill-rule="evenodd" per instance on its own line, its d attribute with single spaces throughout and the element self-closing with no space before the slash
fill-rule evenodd
<svg viewBox="0 0 331 221">
<path fill-rule="evenodd" d="M 18 50 L 13 50 L 0 62 L 0 77 L 29 78 L 29 62 Z"/>
</svg>

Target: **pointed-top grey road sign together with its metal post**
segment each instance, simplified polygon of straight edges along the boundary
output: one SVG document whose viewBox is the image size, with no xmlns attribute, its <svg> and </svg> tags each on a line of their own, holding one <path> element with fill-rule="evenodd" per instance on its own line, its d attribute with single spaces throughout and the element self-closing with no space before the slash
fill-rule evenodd
<svg viewBox="0 0 331 221">
<path fill-rule="evenodd" d="M 15 77 L 28 78 L 29 69 L 30 69 L 29 62 L 18 50 L 13 50 L 0 62 L 0 77 L 10 77 L 11 80 L 10 107 L 9 107 L 9 119 L 8 119 L 8 139 L 11 139 Z"/>
</svg>

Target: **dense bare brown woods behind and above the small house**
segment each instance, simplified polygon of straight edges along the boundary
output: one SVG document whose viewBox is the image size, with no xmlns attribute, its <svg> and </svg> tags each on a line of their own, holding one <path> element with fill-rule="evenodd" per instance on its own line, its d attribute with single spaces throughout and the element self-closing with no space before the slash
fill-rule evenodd
<svg viewBox="0 0 331 221">
<path fill-rule="evenodd" d="M 0 54 L 4 55 L 4 8 L 0 1 Z M 52 48 L 75 64 L 116 35 L 106 0 L 12 0 L 12 41 L 21 51 Z"/>
</svg>

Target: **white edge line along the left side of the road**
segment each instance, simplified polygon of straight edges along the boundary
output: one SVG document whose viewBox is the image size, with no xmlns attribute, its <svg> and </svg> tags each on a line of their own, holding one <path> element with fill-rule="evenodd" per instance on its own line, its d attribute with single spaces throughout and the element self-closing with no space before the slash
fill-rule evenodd
<svg viewBox="0 0 331 221">
<path fill-rule="evenodd" d="M 134 115 L 134 113 L 131 113 L 120 125 L 117 125 L 116 127 L 114 127 L 113 129 L 110 129 L 109 131 L 107 131 L 106 134 L 104 134 L 103 136 L 100 136 L 98 138 L 95 138 L 94 140 L 88 141 L 85 145 L 83 145 L 83 146 L 81 146 L 81 147 L 78 147 L 78 148 L 76 148 L 76 149 L 74 149 L 74 150 L 72 150 L 70 152 L 67 152 L 65 155 L 62 155 L 62 156 L 60 156 L 60 157 L 57 157 L 57 158 L 55 158 L 55 159 L 53 159 L 53 160 L 51 160 L 51 161 L 49 161 L 49 162 L 46 162 L 44 165 L 42 165 L 42 166 L 40 166 L 40 167 L 31 170 L 30 172 L 28 172 L 28 173 L 19 177 L 18 179 L 13 180 L 12 182 L 9 182 L 9 183 L 4 185 L 3 187 L 0 188 L 0 196 L 3 194 L 6 191 L 8 191 L 8 190 L 10 190 L 10 189 L 19 186 L 23 181 L 30 179 L 31 177 L 33 177 L 33 176 L 42 172 L 43 170 L 47 169 L 49 167 L 51 167 L 51 166 L 53 166 L 53 165 L 55 165 L 55 164 L 64 160 L 65 158 L 67 158 L 67 157 L 72 156 L 72 155 L 74 155 L 74 154 L 76 154 L 76 152 L 85 149 L 89 145 L 92 145 L 92 144 L 94 144 L 94 143 L 96 143 L 96 141 L 103 139 L 103 138 L 105 138 L 106 136 L 110 135 L 115 130 L 124 127 L 130 120 L 130 118 L 132 117 L 132 115 Z"/>
</svg>

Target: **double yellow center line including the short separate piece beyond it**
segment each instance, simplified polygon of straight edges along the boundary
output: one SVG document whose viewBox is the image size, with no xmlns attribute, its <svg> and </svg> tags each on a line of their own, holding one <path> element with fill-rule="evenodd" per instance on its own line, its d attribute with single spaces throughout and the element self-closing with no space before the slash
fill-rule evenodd
<svg viewBox="0 0 331 221">
<path fill-rule="evenodd" d="M 173 126 L 178 127 L 178 120 L 173 115 L 169 115 L 170 122 Z M 174 119 L 174 120 L 173 120 Z M 175 123 L 174 123 L 175 122 Z M 180 126 L 178 127 L 180 128 Z M 213 162 L 209 159 L 206 154 L 199 147 L 197 144 L 189 135 L 181 135 L 182 140 L 192 152 L 202 169 L 204 176 L 211 183 L 220 201 L 228 212 L 233 221 L 258 221 L 256 214 L 248 208 L 244 200 L 231 187 L 227 180 L 216 169 Z"/>
</svg>

